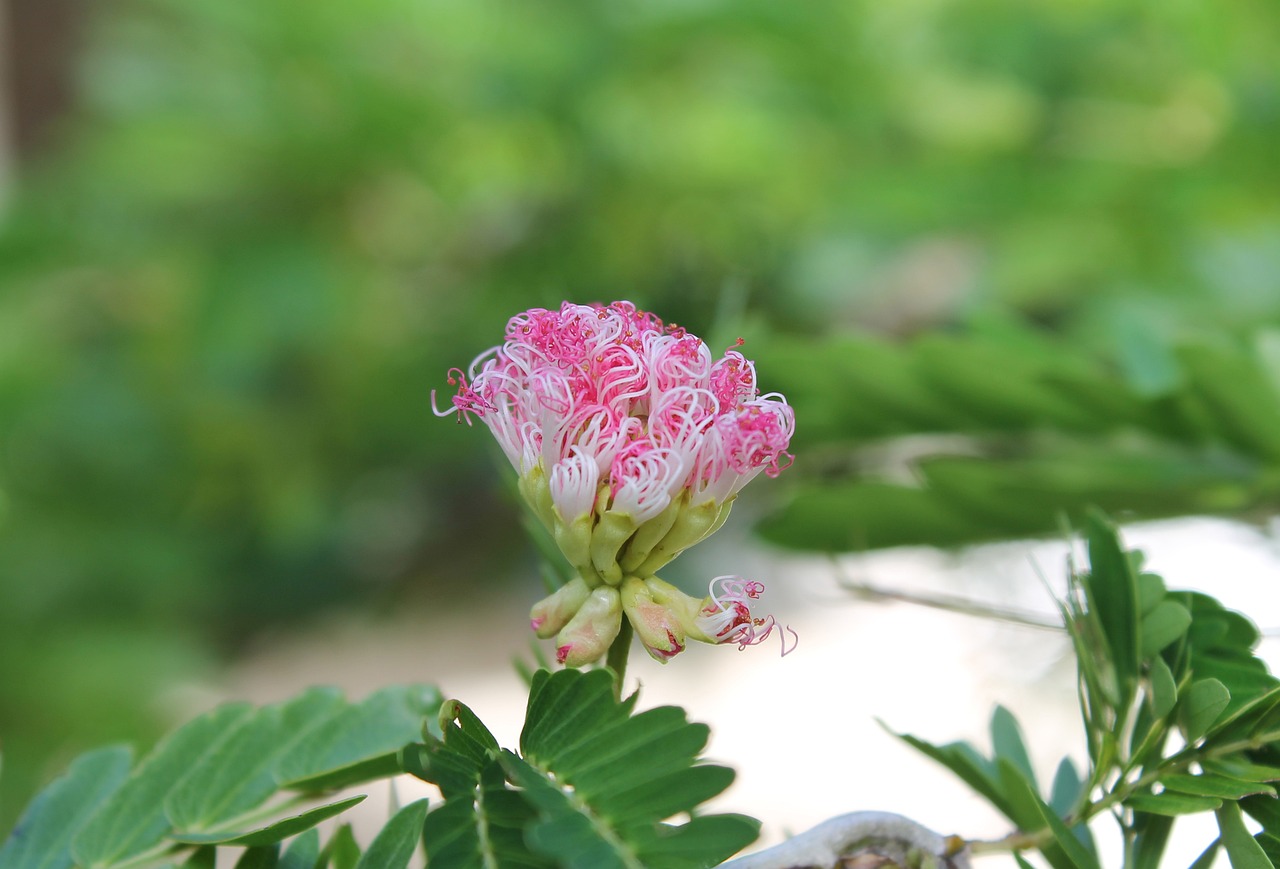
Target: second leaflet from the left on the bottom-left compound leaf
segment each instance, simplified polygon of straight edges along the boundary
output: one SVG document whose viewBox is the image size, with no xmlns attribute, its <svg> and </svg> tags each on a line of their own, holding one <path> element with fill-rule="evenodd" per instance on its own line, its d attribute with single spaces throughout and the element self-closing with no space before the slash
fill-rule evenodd
<svg viewBox="0 0 1280 869">
<path fill-rule="evenodd" d="M 227 704 L 170 733 L 76 836 L 76 861 L 86 869 L 110 866 L 164 842 L 173 829 L 164 814 L 165 796 L 250 714 L 248 704 Z"/>
</svg>

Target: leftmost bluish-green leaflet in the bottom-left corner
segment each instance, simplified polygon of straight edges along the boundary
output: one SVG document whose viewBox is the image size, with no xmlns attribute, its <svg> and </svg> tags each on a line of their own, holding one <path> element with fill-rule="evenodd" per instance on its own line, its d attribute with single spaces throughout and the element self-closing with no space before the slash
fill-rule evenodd
<svg viewBox="0 0 1280 869">
<path fill-rule="evenodd" d="M 41 791 L 0 849 L 0 869 L 70 869 L 72 837 L 124 782 L 133 753 L 125 746 L 90 751 Z"/>
</svg>

